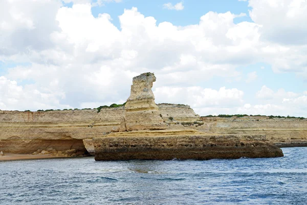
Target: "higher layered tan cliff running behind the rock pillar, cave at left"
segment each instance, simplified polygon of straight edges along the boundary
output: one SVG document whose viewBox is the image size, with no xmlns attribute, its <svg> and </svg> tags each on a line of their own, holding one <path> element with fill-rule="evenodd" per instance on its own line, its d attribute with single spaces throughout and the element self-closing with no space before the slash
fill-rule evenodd
<svg viewBox="0 0 307 205">
<path fill-rule="evenodd" d="M 163 116 L 173 121 L 199 119 L 189 106 L 158 105 Z M 92 110 L 48 112 L 0 111 L 0 151 L 33 153 L 38 149 L 87 149 L 94 153 L 92 138 L 103 136 L 120 127 L 124 107 Z M 159 116 L 160 117 L 160 116 Z M 163 119 L 169 120 L 168 117 Z"/>
</svg>

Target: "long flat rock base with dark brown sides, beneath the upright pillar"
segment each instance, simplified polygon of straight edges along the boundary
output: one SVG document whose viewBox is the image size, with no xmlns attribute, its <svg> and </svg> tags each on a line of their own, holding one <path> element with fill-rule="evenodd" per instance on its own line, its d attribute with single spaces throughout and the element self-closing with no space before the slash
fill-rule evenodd
<svg viewBox="0 0 307 205">
<path fill-rule="evenodd" d="M 264 135 L 208 135 L 195 130 L 135 131 L 94 138 L 95 160 L 281 157 Z"/>
</svg>

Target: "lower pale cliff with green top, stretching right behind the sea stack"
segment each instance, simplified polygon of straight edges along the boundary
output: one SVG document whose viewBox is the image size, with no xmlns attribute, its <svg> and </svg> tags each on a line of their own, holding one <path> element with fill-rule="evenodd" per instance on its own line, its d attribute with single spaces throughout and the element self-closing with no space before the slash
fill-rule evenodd
<svg viewBox="0 0 307 205">
<path fill-rule="evenodd" d="M 204 125 L 198 127 L 200 131 L 221 134 L 261 134 L 268 140 L 284 147 L 307 146 L 307 119 L 289 119 L 269 117 L 202 117 Z"/>
</svg>

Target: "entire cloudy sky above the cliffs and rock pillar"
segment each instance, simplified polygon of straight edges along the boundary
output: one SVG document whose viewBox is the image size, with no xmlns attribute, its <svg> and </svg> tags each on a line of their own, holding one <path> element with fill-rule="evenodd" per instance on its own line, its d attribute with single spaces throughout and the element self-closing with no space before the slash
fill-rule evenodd
<svg viewBox="0 0 307 205">
<path fill-rule="evenodd" d="M 156 103 L 307 117 L 307 0 L 2 0 L 0 110 Z"/>
</svg>

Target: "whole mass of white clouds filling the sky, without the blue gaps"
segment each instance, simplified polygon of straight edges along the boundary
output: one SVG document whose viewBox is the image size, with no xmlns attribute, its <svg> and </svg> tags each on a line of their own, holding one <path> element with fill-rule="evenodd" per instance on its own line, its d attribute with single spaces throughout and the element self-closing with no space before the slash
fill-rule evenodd
<svg viewBox="0 0 307 205">
<path fill-rule="evenodd" d="M 15 87 L 23 92 L 52 94 L 52 100 L 45 101 L 46 107 L 81 108 L 122 102 L 129 95 L 131 78 L 142 72 L 155 72 L 157 102 L 190 104 L 202 115 L 211 111 L 235 114 L 239 108 L 257 111 L 261 106 L 267 111 L 270 108 L 278 111 L 295 99 L 296 103 L 303 101 L 301 94 L 262 87 L 256 94 L 259 103 L 255 105 L 251 103 L 253 99 L 243 98 L 240 88 L 195 87 L 216 76 L 225 81 L 244 79 L 236 68 L 259 62 L 269 64 L 275 72 L 294 72 L 307 79 L 304 37 L 301 44 L 297 39 L 271 37 L 278 34 L 271 31 L 275 27 L 280 32 L 288 26 L 304 34 L 307 26 L 301 19 L 305 15 L 301 12 L 303 3 L 295 6 L 295 1 L 287 0 L 284 5 L 295 10 L 289 13 L 289 8 L 281 9 L 279 1 L 275 7 L 251 0 L 254 22 L 234 23 L 235 18 L 246 14 L 208 12 L 198 24 L 184 27 L 169 22 L 157 24 L 154 17 L 144 16 L 133 7 L 119 16 L 118 29 L 109 14 L 92 15 L 95 4 L 92 1 L 73 1 L 72 8 L 61 7 L 61 1 L 16 1 L 0 2 L 0 61 L 21 64 L 4 74 L 6 85 L 15 82 Z M 266 11 L 266 19 L 261 16 L 262 11 Z M 278 17 L 272 16 L 271 11 Z M 295 32 L 293 38 L 298 35 Z M 247 81 L 256 76 L 251 71 Z M 21 80 L 34 83 L 16 83 Z M 0 105 L 19 109 L 17 105 L 22 104 L 23 98 L 11 95 L 6 92 L 6 97 L 16 99 L 17 104 L 0 100 Z M 29 96 L 42 103 L 41 95 Z M 283 99 L 289 100 L 282 103 Z M 244 107 L 245 104 L 250 106 Z M 43 106 L 37 104 L 36 109 Z"/>
</svg>

